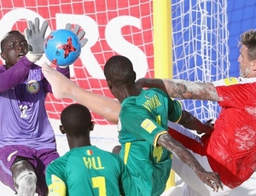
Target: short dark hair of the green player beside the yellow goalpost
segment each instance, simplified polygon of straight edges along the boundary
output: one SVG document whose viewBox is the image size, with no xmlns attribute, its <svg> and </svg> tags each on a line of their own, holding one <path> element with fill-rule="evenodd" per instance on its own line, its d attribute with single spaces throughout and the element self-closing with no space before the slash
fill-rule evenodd
<svg viewBox="0 0 256 196">
<path fill-rule="evenodd" d="M 104 75 L 115 85 L 134 84 L 135 72 L 131 61 L 122 55 L 113 55 L 104 66 Z"/>
</svg>

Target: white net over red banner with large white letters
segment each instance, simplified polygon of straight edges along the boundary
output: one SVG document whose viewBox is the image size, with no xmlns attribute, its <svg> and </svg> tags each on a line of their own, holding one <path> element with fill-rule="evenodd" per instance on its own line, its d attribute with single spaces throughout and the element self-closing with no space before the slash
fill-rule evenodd
<svg viewBox="0 0 256 196">
<path fill-rule="evenodd" d="M 67 22 L 82 26 L 89 42 L 79 60 L 71 66 L 71 75 L 84 89 L 113 97 L 102 66 L 110 56 L 117 54 L 131 59 L 138 78 L 154 77 L 152 0 L 1 1 L 0 17 L 0 35 L 11 29 L 23 32 L 26 20 L 35 17 L 49 21 L 47 33 L 64 28 Z M 46 101 L 49 118 L 59 118 L 62 109 L 72 102 L 57 101 L 49 95 Z M 97 124 L 108 124 L 95 113 L 93 118 Z"/>
</svg>

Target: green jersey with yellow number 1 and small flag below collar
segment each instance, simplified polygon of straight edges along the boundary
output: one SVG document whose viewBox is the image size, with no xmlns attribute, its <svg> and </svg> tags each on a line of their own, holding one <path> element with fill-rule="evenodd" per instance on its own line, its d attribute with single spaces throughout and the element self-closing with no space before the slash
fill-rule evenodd
<svg viewBox="0 0 256 196">
<path fill-rule="evenodd" d="M 76 147 L 46 169 L 49 196 L 140 195 L 119 155 L 95 146 Z"/>
</svg>

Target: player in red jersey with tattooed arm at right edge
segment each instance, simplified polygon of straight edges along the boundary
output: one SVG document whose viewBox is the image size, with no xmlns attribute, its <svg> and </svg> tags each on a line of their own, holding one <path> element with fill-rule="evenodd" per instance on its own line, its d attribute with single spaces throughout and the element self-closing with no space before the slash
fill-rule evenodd
<svg viewBox="0 0 256 196">
<path fill-rule="evenodd" d="M 256 31 L 242 33 L 240 46 L 239 78 L 212 83 L 147 78 L 137 81 L 138 86 L 158 87 L 174 98 L 218 101 L 222 110 L 212 133 L 198 138 L 177 124 L 169 124 L 172 137 L 201 159 L 206 170 L 218 172 L 225 185 L 218 195 L 232 195 L 232 189 L 245 182 L 256 169 Z M 209 192 L 196 176 L 189 176 L 187 169 L 179 160 L 173 164 L 173 170 L 189 185 L 184 195 L 217 195 Z"/>
</svg>

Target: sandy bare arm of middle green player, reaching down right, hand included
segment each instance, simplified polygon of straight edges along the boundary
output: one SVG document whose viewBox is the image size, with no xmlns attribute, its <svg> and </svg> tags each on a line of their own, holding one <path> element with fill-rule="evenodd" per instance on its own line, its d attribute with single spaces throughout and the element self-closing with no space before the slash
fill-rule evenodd
<svg viewBox="0 0 256 196">
<path fill-rule="evenodd" d="M 157 144 L 162 147 L 166 147 L 166 149 L 172 152 L 177 159 L 180 159 L 183 161 L 183 163 L 188 164 L 189 167 L 195 171 L 196 176 L 198 176 L 202 182 L 212 187 L 213 191 L 218 192 L 219 187 L 223 188 L 218 173 L 207 172 L 189 152 L 189 150 L 180 142 L 174 140 L 171 135 L 168 133 L 160 135 Z"/>
</svg>

